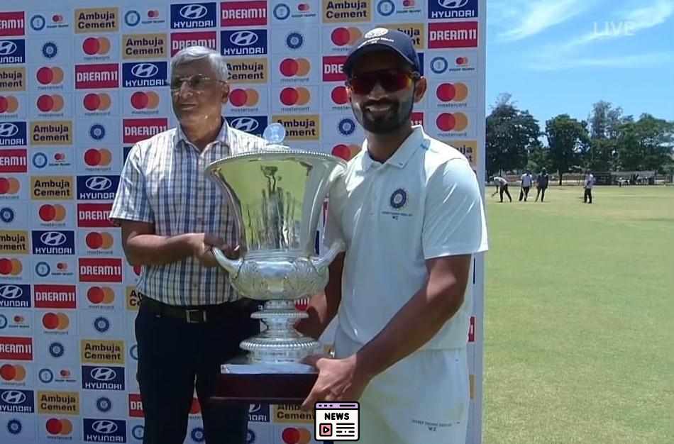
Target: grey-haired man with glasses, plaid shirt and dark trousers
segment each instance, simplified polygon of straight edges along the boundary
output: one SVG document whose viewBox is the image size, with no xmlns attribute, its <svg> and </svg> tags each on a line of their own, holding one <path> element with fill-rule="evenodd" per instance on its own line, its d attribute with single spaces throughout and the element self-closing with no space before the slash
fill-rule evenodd
<svg viewBox="0 0 674 444">
<path fill-rule="evenodd" d="M 247 406 L 209 404 L 220 364 L 259 331 L 255 308 L 239 299 L 211 247 L 232 250 L 231 204 L 204 174 L 210 162 L 262 150 L 261 138 L 228 127 L 221 116 L 229 87 L 218 52 L 186 48 L 171 62 L 179 126 L 133 147 L 110 218 L 121 226 L 131 265 L 142 265 L 136 318 L 138 382 L 145 444 L 178 444 L 196 386 L 206 443 L 245 443 Z"/>
</svg>

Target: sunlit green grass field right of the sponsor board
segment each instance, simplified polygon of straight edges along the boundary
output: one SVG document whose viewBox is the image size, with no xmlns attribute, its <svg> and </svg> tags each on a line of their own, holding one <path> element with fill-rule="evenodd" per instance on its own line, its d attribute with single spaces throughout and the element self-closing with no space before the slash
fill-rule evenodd
<svg viewBox="0 0 674 444">
<path fill-rule="evenodd" d="M 674 187 L 493 190 L 484 443 L 674 443 Z"/>
</svg>

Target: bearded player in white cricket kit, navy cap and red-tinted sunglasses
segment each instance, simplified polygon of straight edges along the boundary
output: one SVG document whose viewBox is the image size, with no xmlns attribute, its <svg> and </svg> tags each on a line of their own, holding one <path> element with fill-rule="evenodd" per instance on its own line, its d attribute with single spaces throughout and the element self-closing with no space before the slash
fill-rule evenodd
<svg viewBox="0 0 674 444">
<path fill-rule="evenodd" d="M 426 91 L 419 71 L 409 37 L 384 28 L 365 33 L 344 64 L 366 140 L 329 195 L 325 245 L 341 238 L 346 253 L 298 326 L 318 337 L 338 311 L 336 359 L 307 360 L 319 379 L 303 408 L 359 400 L 364 444 L 465 443 L 485 213 L 468 160 L 411 125 Z"/>
</svg>

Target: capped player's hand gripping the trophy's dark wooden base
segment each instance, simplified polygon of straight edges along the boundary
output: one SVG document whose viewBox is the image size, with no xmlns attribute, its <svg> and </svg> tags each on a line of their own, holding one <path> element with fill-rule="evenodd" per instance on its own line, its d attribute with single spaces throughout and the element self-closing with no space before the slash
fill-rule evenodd
<svg viewBox="0 0 674 444">
<path fill-rule="evenodd" d="M 311 355 L 302 360 L 319 370 L 319 377 L 302 410 L 311 411 L 320 401 L 358 401 L 370 383 L 370 377 L 359 370 L 356 356 L 333 359 L 325 355 Z"/>
</svg>

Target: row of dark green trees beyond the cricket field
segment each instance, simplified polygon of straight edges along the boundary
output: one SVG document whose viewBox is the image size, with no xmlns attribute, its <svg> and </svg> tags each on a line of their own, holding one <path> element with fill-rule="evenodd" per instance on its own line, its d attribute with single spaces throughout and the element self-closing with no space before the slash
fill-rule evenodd
<svg viewBox="0 0 674 444">
<path fill-rule="evenodd" d="M 625 116 L 607 101 L 592 105 L 587 120 L 560 114 L 541 131 L 529 111 L 501 94 L 487 116 L 487 176 L 546 168 L 559 184 L 568 172 L 656 171 L 674 173 L 674 122 L 644 113 Z"/>
</svg>

